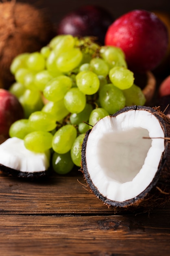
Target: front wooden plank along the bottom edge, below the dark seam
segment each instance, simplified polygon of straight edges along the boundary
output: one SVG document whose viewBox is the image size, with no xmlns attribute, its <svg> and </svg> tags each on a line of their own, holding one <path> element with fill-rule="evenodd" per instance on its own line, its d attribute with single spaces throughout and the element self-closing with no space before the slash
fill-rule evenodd
<svg viewBox="0 0 170 256">
<path fill-rule="evenodd" d="M 140 216 L 0 216 L 3 256 L 169 256 L 170 219 Z"/>
</svg>

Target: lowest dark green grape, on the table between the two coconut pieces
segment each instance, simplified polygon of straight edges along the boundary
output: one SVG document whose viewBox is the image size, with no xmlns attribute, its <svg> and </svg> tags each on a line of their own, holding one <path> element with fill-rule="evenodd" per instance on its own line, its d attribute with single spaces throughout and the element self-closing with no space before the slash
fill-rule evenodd
<svg viewBox="0 0 170 256">
<path fill-rule="evenodd" d="M 59 154 L 54 152 L 52 155 L 52 167 L 53 170 L 58 174 L 69 173 L 74 167 L 70 151 L 65 154 Z"/>
</svg>

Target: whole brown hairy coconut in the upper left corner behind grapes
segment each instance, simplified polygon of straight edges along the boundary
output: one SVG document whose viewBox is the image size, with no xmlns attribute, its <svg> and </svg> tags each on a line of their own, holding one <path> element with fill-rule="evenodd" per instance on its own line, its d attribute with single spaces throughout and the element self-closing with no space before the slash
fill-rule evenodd
<svg viewBox="0 0 170 256">
<path fill-rule="evenodd" d="M 15 56 L 39 51 L 54 36 L 43 10 L 16 1 L 0 3 L 0 78 L 4 88 L 13 81 L 9 67 Z"/>
</svg>

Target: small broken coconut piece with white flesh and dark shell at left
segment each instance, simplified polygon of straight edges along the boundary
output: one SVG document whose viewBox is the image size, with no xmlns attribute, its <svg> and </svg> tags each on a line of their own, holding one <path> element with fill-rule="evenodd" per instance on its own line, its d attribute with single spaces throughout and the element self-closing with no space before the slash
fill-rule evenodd
<svg viewBox="0 0 170 256">
<path fill-rule="evenodd" d="M 12 137 L 0 145 L 0 171 L 5 174 L 37 179 L 48 175 L 49 154 L 34 153 L 24 146 L 24 141 Z"/>
</svg>

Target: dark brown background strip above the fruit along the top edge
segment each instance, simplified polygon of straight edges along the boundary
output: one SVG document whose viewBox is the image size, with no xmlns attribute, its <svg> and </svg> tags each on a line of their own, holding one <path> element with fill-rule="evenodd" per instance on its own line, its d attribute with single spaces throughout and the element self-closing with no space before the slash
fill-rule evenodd
<svg viewBox="0 0 170 256">
<path fill-rule="evenodd" d="M 86 4 L 102 6 L 114 18 L 133 9 L 161 10 L 170 13 L 170 0 L 20 0 L 20 2 L 29 2 L 45 9 L 52 22 L 56 24 L 66 13 Z"/>
</svg>

